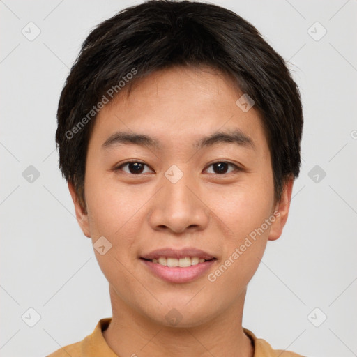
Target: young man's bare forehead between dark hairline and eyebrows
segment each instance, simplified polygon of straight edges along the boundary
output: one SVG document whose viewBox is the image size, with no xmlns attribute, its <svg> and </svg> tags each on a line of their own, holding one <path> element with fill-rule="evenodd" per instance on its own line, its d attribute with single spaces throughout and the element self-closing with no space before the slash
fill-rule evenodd
<svg viewBox="0 0 357 357">
<path fill-rule="evenodd" d="M 127 138 L 131 132 L 157 149 L 175 144 L 197 149 L 225 132 L 257 149 L 266 145 L 261 119 L 254 107 L 243 112 L 236 104 L 242 95 L 228 75 L 211 68 L 160 70 L 129 83 L 100 110 L 90 144 L 109 147 L 111 140 L 119 142 L 116 132 Z"/>
</svg>

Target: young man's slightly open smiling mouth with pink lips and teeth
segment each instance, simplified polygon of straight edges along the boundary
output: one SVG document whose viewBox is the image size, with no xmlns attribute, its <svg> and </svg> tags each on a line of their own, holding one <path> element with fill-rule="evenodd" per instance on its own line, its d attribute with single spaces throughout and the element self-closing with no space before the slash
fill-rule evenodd
<svg viewBox="0 0 357 357">
<path fill-rule="evenodd" d="M 196 248 L 163 248 L 140 257 L 140 260 L 160 280 L 183 283 L 200 278 L 217 258 Z"/>
</svg>

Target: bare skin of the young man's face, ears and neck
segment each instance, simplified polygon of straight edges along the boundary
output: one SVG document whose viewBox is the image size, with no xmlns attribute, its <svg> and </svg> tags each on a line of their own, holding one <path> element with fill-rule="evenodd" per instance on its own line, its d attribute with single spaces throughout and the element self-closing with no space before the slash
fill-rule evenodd
<svg viewBox="0 0 357 357">
<path fill-rule="evenodd" d="M 242 328 L 246 288 L 267 241 L 282 234 L 294 180 L 275 202 L 261 119 L 254 107 L 243 112 L 236 105 L 241 94 L 215 70 L 176 67 L 134 83 L 96 118 L 86 158 L 87 212 L 73 185 L 68 188 L 84 234 L 93 243 L 100 236 L 112 243 L 105 255 L 94 251 L 112 302 L 112 323 L 103 335 L 119 356 L 253 356 Z M 201 137 L 237 128 L 255 149 L 192 147 Z M 162 149 L 102 149 L 118 130 L 156 137 Z M 145 163 L 142 174 L 129 165 L 112 170 L 130 159 Z M 220 174 L 212 164 L 222 160 L 241 170 L 228 165 Z M 183 172 L 177 183 L 165 177 L 172 165 Z M 207 274 L 183 284 L 165 282 L 139 259 L 162 247 L 195 247 L 217 258 L 208 273 L 214 272 L 274 211 L 280 213 L 275 222 L 215 282 Z M 182 317 L 176 326 L 165 319 L 173 308 Z"/>
</svg>

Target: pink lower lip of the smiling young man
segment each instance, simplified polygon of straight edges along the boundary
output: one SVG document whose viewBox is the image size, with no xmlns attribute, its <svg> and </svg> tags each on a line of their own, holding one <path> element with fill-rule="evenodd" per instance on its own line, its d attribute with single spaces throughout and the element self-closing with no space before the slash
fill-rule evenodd
<svg viewBox="0 0 357 357">
<path fill-rule="evenodd" d="M 149 260 L 140 259 L 156 276 L 167 282 L 192 282 L 206 273 L 215 263 L 215 259 L 204 261 L 192 266 L 181 268 L 180 266 L 163 266 Z"/>
</svg>

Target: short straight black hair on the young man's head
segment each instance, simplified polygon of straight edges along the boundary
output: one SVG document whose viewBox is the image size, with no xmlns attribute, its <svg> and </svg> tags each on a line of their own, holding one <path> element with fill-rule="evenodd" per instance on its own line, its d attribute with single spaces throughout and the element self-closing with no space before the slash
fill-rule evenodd
<svg viewBox="0 0 357 357">
<path fill-rule="evenodd" d="M 173 66 L 220 70 L 254 100 L 279 201 L 286 180 L 299 174 L 303 132 L 301 96 L 284 59 L 255 26 L 231 10 L 198 1 L 149 0 L 121 10 L 89 33 L 61 92 L 59 167 L 82 207 L 86 209 L 86 153 L 97 103 L 113 89 L 119 93 L 119 83 L 128 82 L 129 73 L 135 73 L 132 84 Z"/>
</svg>

